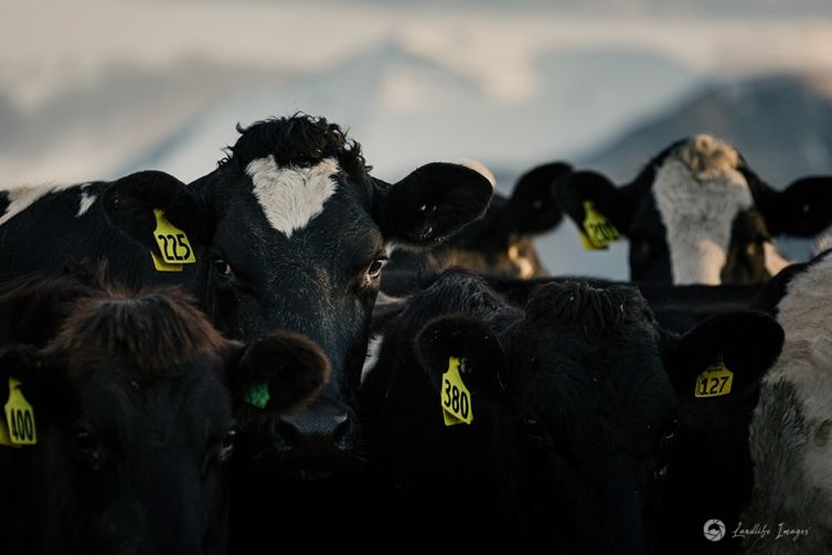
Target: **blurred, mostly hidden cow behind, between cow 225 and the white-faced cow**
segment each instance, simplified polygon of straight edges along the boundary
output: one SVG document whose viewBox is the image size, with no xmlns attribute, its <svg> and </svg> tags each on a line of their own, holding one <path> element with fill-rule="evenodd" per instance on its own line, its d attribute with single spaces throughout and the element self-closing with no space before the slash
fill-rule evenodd
<svg viewBox="0 0 832 555">
<path fill-rule="evenodd" d="M 467 162 L 489 180 L 493 173 L 482 164 Z M 419 274 L 463 266 L 478 273 L 520 279 L 545 276 L 534 248 L 534 237 L 554 231 L 563 220 L 554 195 L 554 182 L 572 171 L 566 162 L 550 162 L 523 173 L 511 196 L 494 193 L 481 220 L 477 220 L 441 245 L 424 253 L 397 250 L 382 277 L 382 290 L 398 293 Z"/>
</svg>

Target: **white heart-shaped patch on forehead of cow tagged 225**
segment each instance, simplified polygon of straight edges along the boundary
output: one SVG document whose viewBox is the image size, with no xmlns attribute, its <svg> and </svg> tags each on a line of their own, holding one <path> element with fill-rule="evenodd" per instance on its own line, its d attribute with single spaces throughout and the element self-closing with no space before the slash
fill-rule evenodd
<svg viewBox="0 0 832 555">
<path fill-rule="evenodd" d="M 252 160 L 246 167 L 263 213 L 271 227 L 287 237 L 323 212 L 323 203 L 335 193 L 334 175 L 340 171 L 332 158 L 312 168 L 279 168 L 275 157 L 269 156 Z"/>
</svg>

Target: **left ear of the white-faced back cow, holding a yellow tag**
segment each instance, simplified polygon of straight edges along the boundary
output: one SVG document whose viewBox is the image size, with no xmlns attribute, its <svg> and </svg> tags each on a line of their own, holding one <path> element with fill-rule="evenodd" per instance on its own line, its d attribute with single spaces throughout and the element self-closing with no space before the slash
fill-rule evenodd
<svg viewBox="0 0 832 555">
<path fill-rule="evenodd" d="M 618 231 L 626 234 L 632 222 L 630 202 L 606 175 L 594 171 L 567 173 L 555 182 L 557 202 L 578 230 L 587 234 L 587 207 L 606 217 Z"/>
</svg>

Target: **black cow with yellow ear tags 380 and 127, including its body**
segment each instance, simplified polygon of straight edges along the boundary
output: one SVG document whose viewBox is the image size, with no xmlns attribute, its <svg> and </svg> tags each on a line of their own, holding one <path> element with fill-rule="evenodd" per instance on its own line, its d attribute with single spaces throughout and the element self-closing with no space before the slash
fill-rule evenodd
<svg viewBox="0 0 832 555">
<path fill-rule="evenodd" d="M 378 529 L 442 553 L 652 553 L 676 435 L 707 429 L 782 342 L 749 311 L 666 333 L 625 285 L 555 280 L 518 307 L 451 269 L 396 303 L 362 382 Z M 732 395 L 696 398 L 716 360 Z"/>
</svg>

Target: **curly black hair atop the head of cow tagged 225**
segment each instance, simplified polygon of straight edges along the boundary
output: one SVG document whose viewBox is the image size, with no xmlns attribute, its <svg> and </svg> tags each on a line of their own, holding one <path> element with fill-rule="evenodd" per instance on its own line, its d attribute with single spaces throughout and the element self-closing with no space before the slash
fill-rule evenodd
<svg viewBox="0 0 832 555">
<path fill-rule="evenodd" d="M 220 164 L 235 163 L 241 171 L 258 158 L 273 156 L 279 167 L 309 168 L 324 158 L 334 158 L 351 178 L 363 180 L 371 167 L 361 153 L 361 145 L 348 139 L 338 124 L 326 118 L 297 113 L 289 117 L 255 121 L 248 127 L 237 124 L 239 139 L 227 148 L 228 157 Z"/>
</svg>

